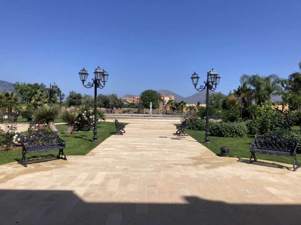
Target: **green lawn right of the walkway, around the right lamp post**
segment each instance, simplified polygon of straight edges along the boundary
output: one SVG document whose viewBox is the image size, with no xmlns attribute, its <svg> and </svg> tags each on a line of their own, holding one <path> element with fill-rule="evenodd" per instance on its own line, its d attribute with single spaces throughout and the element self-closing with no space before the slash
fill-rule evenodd
<svg viewBox="0 0 301 225">
<path fill-rule="evenodd" d="M 296 126 L 298 127 L 298 126 Z M 300 127 L 299 127 L 300 129 Z M 186 129 L 185 132 L 200 143 L 204 142 L 205 131 L 193 131 Z M 216 155 L 220 153 L 221 146 L 229 148 L 229 156 L 236 158 L 250 158 L 251 153 L 249 149 L 250 143 L 253 142 L 254 135 L 247 135 L 247 137 L 209 137 L 211 144 L 203 144 Z M 294 158 L 292 156 L 275 156 L 268 154 L 255 153 L 257 159 L 274 161 L 279 163 L 293 164 Z M 301 155 L 297 155 L 297 161 L 301 163 Z"/>
</svg>

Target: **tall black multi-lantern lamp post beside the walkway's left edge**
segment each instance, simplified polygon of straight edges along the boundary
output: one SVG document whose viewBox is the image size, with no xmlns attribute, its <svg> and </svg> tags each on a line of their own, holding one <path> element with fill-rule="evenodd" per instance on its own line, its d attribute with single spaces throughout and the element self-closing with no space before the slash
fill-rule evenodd
<svg viewBox="0 0 301 225">
<path fill-rule="evenodd" d="M 99 66 L 95 69 L 94 71 L 94 75 L 95 78 L 92 78 L 92 83 L 88 82 L 87 85 L 84 85 L 84 82 L 86 81 L 87 77 L 88 77 L 88 71 L 85 70 L 85 67 L 79 71 L 79 78 L 82 81 L 82 85 L 85 88 L 92 88 L 94 85 L 94 136 L 93 138 L 93 142 L 98 141 L 98 137 L 97 137 L 97 88 L 104 88 L 105 83 L 107 82 L 108 76 L 109 74 L 107 73 L 107 71 L 105 71 L 104 69 L 101 69 Z M 101 84 L 101 82 L 103 83 L 103 85 Z"/>
</svg>

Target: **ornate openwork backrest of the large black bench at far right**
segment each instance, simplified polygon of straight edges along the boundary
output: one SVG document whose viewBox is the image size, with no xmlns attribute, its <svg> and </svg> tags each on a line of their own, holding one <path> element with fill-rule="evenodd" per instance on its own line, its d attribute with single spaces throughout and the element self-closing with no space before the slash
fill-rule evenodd
<svg viewBox="0 0 301 225">
<path fill-rule="evenodd" d="M 297 149 L 297 140 L 298 137 L 290 139 L 284 136 L 280 136 L 277 133 L 267 136 L 258 136 L 256 134 L 252 144 L 253 148 L 258 149 L 294 152 Z"/>
</svg>

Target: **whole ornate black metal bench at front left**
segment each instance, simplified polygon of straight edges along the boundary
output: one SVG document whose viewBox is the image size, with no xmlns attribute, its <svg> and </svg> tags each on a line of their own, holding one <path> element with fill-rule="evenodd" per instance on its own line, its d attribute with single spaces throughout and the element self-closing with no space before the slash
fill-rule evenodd
<svg viewBox="0 0 301 225">
<path fill-rule="evenodd" d="M 59 149 L 57 158 L 62 158 L 67 160 L 66 155 L 63 151 L 65 148 L 66 142 L 62 140 L 57 132 L 48 133 L 46 131 L 37 131 L 29 135 L 20 136 L 20 142 L 23 147 L 22 149 L 22 159 L 18 163 L 22 164 L 24 167 L 27 167 L 27 158 L 26 153 L 32 152 L 49 152 L 50 150 Z M 64 155 L 64 158 L 61 156 Z"/>
</svg>

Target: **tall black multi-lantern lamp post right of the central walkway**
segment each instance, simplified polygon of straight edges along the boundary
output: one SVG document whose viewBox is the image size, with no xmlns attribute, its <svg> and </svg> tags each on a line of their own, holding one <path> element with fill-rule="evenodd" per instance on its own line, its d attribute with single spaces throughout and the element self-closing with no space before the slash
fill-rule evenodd
<svg viewBox="0 0 301 225">
<path fill-rule="evenodd" d="M 209 139 L 209 90 L 214 91 L 216 89 L 216 85 L 219 84 L 219 79 L 221 78 L 219 76 L 218 73 L 216 73 L 215 70 L 212 70 L 210 72 L 207 72 L 207 81 L 204 81 L 205 85 L 200 85 L 199 88 L 197 88 L 197 83 L 199 82 L 199 76 L 197 75 L 197 73 L 193 73 L 191 75 L 191 80 L 192 83 L 194 85 L 194 88 L 197 91 L 203 91 L 203 90 L 207 90 L 206 93 L 206 131 L 205 131 L 205 142 L 204 143 L 208 143 L 210 144 L 210 139 Z"/>
</svg>

